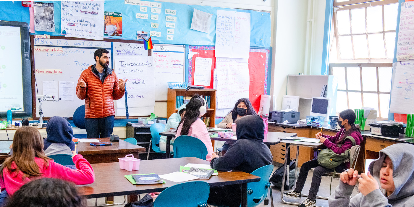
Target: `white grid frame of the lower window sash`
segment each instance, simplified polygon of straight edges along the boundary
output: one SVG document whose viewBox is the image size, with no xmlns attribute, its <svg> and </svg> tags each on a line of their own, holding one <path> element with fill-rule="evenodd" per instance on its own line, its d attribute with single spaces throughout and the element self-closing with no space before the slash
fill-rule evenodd
<svg viewBox="0 0 414 207">
<path fill-rule="evenodd" d="M 388 118 L 381 117 L 381 103 L 380 103 L 380 94 L 391 94 L 390 92 L 383 92 L 380 91 L 380 83 L 379 83 L 379 74 L 378 68 L 379 67 L 392 67 L 392 63 L 330 63 L 329 64 L 329 75 L 333 75 L 333 67 L 344 67 L 344 74 L 345 74 L 345 90 L 344 89 L 337 89 L 337 91 L 344 91 L 347 93 L 347 106 L 349 108 L 349 92 L 357 92 L 361 93 L 361 106 L 363 106 L 363 94 L 370 93 L 370 94 L 377 94 L 378 96 L 378 117 L 377 120 L 388 120 Z M 359 82 L 361 84 L 361 91 L 358 90 L 348 90 L 348 77 L 347 77 L 347 67 L 359 67 Z M 362 84 L 362 67 L 376 67 L 376 74 L 377 74 L 377 91 L 364 91 L 363 84 Z M 386 113 L 388 114 L 388 113 Z"/>
</svg>

